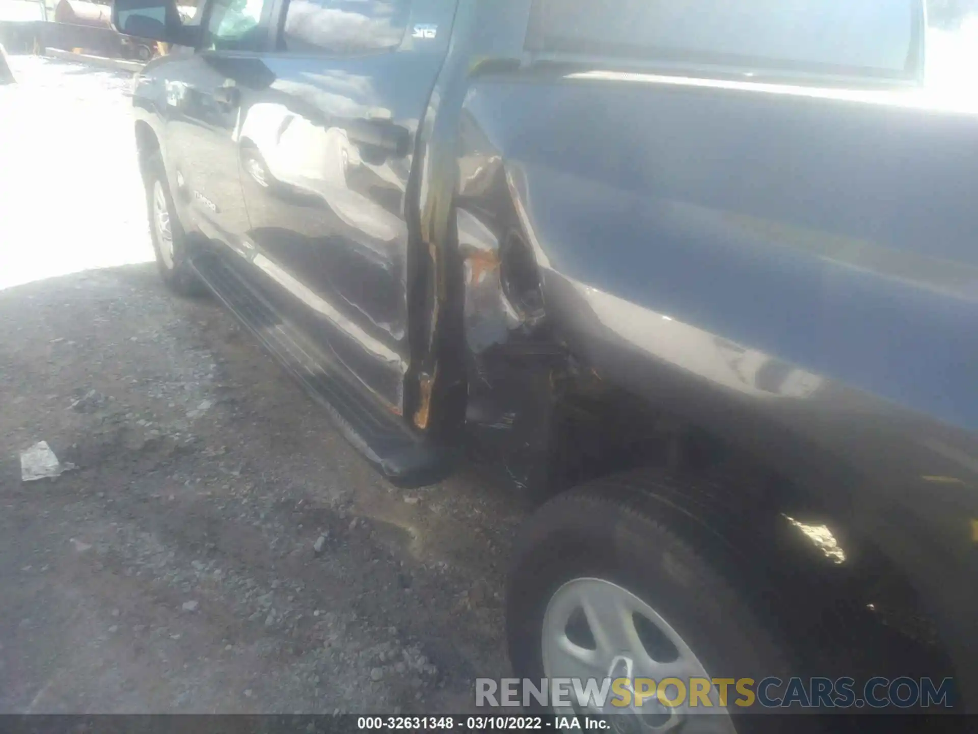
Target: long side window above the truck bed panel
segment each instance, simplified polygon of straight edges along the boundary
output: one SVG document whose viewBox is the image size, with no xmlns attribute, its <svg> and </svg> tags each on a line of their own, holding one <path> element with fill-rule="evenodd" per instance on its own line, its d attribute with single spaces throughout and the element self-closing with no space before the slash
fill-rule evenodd
<svg viewBox="0 0 978 734">
<path fill-rule="evenodd" d="M 531 51 L 912 78 L 920 0 L 534 0 Z"/>
</svg>

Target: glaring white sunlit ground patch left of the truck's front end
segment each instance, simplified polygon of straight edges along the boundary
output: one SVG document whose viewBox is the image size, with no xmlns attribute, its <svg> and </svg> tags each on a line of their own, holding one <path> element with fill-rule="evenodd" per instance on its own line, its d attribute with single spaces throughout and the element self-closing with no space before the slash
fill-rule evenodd
<svg viewBox="0 0 978 734">
<path fill-rule="evenodd" d="M 153 259 L 127 74 L 8 57 L 0 86 L 0 292 Z"/>
</svg>

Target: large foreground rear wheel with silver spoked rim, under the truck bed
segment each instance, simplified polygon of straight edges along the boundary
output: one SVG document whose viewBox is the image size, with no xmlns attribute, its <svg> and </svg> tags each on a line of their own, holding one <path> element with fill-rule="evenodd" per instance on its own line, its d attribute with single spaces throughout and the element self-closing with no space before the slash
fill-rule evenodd
<svg viewBox="0 0 978 734">
<path fill-rule="evenodd" d="M 617 731 L 749 731 L 745 717 L 731 715 L 747 697 L 733 684 L 724 707 L 707 681 L 783 679 L 790 666 L 770 625 L 714 563 L 707 533 L 700 543 L 668 527 L 649 501 L 649 482 L 636 475 L 593 482 L 544 505 L 523 529 L 507 592 L 515 675 L 580 679 L 581 687 L 628 679 L 627 700 L 614 688 L 603 705 L 577 700 L 570 688 L 569 701 L 546 707 L 616 714 Z M 696 700 L 693 687 L 703 692 Z"/>
</svg>

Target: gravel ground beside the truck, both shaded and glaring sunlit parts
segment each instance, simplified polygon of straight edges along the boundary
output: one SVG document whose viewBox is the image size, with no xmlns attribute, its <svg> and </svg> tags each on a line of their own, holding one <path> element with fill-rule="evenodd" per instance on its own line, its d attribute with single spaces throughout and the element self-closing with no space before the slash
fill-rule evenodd
<svg viewBox="0 0 978 734">
<path fill-rule="evenodd" d="M 158 283 L 126 76 L 11 61 L 0 712 L 470 711 L 508 672 L 525 501 L 477 465 L 378 479 L 227 313 Z M 22 482 L 39 440 L 74 466 Z"/>
</svg>

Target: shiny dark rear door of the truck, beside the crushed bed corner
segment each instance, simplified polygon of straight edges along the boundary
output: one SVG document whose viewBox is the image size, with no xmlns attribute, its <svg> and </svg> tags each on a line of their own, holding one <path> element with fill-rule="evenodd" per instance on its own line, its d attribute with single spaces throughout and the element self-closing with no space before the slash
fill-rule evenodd
<svg viewBox="0 0 978 734">
<path fill-rule="evenodd" d="M 391 412 L 409 365 L 406 195 L 456 0 L 286 0 L 275 77 L 244 111 L 257 264 Z"/>
</svg>

